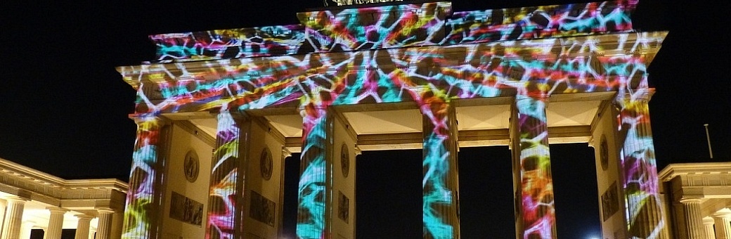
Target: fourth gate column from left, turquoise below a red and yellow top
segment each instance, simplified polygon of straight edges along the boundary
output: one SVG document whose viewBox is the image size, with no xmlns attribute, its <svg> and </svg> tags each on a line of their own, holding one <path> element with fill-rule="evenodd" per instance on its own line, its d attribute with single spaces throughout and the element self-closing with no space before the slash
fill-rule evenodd
<svg viewBox="0 0 731 239">
<path fill-rule="evenodd" d="M 423 114 L 424 238 L 460 238 L 457 124 L 445 102 L 420 105 Z"/>
</svg>

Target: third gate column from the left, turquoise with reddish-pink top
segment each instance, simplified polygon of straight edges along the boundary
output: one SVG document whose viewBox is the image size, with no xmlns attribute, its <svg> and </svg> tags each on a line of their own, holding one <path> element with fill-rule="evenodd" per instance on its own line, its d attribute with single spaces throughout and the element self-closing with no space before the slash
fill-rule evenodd
<svg viewBox="0 0 731 239">
<path fill-rule="evenodd" d="M 312 104 L 304 106 L 302 156 L 297 213 L 298 238 L 330 238 L 325 235 L 325 162 L 327 112 Z"/>
</svg>

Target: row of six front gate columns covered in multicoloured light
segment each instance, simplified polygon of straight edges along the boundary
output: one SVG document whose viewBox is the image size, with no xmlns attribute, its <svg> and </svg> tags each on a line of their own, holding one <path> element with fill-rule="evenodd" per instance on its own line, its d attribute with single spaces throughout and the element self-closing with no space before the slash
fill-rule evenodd
<svg viewBox="0 0 731 239">
<path fill-rule="evenodd" d="M 647 110 L 647 92 L 640 96 L 618 98 L 621 111 L 621 145 L 624 153 L 651 151 L 651 132 Z M 636 100 L 641 99 L 641 100 Z M 521 238 L 556 238 L 556 216 L 553 203 L 553 180 L 550 172 L 550 152 L 548 150 L 548 122 L 545 106 L 548 95 L 519 94 L 515 99 L 511 122 L 511 139 L 515 173 L 516 221 Z M 458 182 L 456 171 L 456 122 L 453 106 L 448 102 L 424 100 L 420 110 L 424 115 L 424 232 L 426 238 L 459 238 L 458 219 Z M 300 166 L 300 201 L 298 208 L 298 229 L 300 238 L 320 238 L 328 235 L 331 202 L 327 177 L 329 167 L 325 155 L 329 152 L 327 133 L 330 115 L 327 105 L 303 106 L 303 150 Z M 241 170 L 239 148 L 240 137 L 246 137 L 241 127 L 244 121 L 235 120 L 237 113 L 222 109 L 219 114 L 217 132 L 216 165 L 226 167 L 212 177 L 211 191 L 235 195 L 243 185 L 246 172 Z M 124 233 L 129 236 L 144 235 L 156 238 L 158 235 L 159 208 L 162 205 L 162 173 L 170 137 L 167 121 L 158 115 L 139 115 L 137 121 L 137 142 L 133 153 L 127 209 L 125 211 Z M 242 123 L 244 122 L 244 123 Z M 223 147 L 235 145 L 235 147 Z M 331 146 L 331 145 L 330 145 Z M 219 150 L 225 149 L 225 151 Z M 624 167 L 624 188 L 634 189 L 628 193 L 627 205 L 634 223 L 629 229 L 634 234 L 657 236 L 662 230 L 662 212 L 656 203 L 641 203 L 645 200 L 659 199 L 657 192 L 636 183 L 655 182 L 656 169 L 654 158 L 636 158 L 635 155 L 622 155 Z M 641 164 L 645 167 L 636 167 Z M 639 171 L 635 170 L 640 168 Z M 623 172 L 620 172 L 621 174 Z M 220 190 L 217 187 L 221 186 Z M 222 195 L 226 196 L 226 195 Z M 439 197 L 436 197 L 439 196 Z M 231 197 L 222 197 L 231 198 Z M 147 205 L 140 207 L 140 205 Z M 209 210 L 224 212 L 216 215 L 215 220 L 209 211 L 206 226 L 208 237 L 236 233 L 240 228 L 238 203 L 209 205 Z"/>
</svg>

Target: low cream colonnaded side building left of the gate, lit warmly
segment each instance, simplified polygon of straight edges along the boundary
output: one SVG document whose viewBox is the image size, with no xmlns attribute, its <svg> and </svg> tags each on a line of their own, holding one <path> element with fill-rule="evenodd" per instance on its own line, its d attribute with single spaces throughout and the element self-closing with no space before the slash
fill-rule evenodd
<svg viewBox="0 0 731 239">
<path fill-rule="evenodd" d="M 118 239 L 122 235 L 127 184 L 116 179 L 65 180 L 0 159 L 0 238 L 60 239 L 63 229 L 76 238 Z"/>
</svg>

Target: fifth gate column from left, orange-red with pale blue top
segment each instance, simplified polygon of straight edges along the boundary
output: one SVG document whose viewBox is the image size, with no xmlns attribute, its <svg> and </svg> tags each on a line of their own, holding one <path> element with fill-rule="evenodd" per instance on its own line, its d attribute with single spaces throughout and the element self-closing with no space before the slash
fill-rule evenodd
<svg viewBox="0 0 731 239">
<path fill-rule="evenodd" d="M 511 150 L 517 238 L 556 238 L 545 96 L 515 96 Z"/>
</svg>

